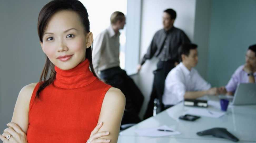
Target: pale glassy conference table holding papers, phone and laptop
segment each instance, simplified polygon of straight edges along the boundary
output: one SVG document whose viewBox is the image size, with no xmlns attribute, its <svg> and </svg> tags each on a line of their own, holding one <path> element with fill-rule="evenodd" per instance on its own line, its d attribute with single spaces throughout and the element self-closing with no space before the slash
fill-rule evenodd
<svg viewBox="0 0 256 143">
<path fill-rule="evenodd" d="M 207 109 L 210 111 L 220 110 L 218 96 L 206 96 L 208 100 Z M 198 136 L 196 133 L 215 127 L 226 128 L 231 134 L 236 136 L 243 143 L 256 142 L 256 105 L 233 106 L 229 105 L 225 114 L 219 118 L 204 117 L 191 122 L 180 120 L 179 116 L 184 115 L 189 109 L 202 107 L 184 106 L 183 102 L 166 109 L 165 111 L 150 117 L 124 131 L 120 132 L 118 143 L 180 143 L 180 142 L 233 142 L 224 138 L 216 138 L 211 135 Z M 135 131 L 138 129 L 150 129 L 167 125 L 179 135 L 169 135 L 162 137 L 140 136 Z"/>
</svg>

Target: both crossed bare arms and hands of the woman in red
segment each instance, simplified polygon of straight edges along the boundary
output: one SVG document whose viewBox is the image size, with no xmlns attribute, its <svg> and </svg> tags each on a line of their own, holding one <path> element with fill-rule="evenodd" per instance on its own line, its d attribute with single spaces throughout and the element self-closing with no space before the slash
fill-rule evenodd
<svg viewBox="0 0 256 143">
<path fill-rule="evenodd" d="M 0 135 L 0 139 L 4 143 L 27 143 L 29 101 L 35 86 L 36 83 L 29 84 L 20 91 L 12 121 L 7 124 L 8 128 Z M 91 132 L 89 139 L 91 143 L 117 142 L 124 108 L 124 94 L 119 89 L 111 87 L 102 103 L 99 124 Z"/>
</svg>

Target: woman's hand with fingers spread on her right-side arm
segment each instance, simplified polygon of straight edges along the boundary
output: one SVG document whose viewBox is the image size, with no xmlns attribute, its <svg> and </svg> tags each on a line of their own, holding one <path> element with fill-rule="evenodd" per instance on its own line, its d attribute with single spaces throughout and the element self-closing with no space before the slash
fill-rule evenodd
<svg viewBox="0 0 256 143">
<path fill-rule="evenodd" d="M 109 135 L 109 131 L 102 131 L 102 132 L 99 132 L 99 129 L 101 128 L 102 126 L 102 122 L 100 122 L 94 129 L 93 131 L 91 132 L 91 135 L 90 135 L 90 138 L 87 140 L 86 143 L 109 143 L 110 142 L 110 139 L 99 139 L 100 137 L 102 136 L 107 136 Z"/>
</svg>

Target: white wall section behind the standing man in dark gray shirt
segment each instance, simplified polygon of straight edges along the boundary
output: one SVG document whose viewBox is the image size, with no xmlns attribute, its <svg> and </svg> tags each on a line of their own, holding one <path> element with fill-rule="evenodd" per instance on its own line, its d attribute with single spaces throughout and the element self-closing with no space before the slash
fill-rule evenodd
<svg viewBox="0 0 256 143">
<path fill-rule="evenodd" d="M 147 48 L 154 36 L 155 32 L 163 28 L 162 15 L 167 8 L 173 8 L 177 12 L 177 18 L 174 26 L 185 31 L 189 39 L 193 41 L 194 23 L 195 23 L 195 0 L 143 0 L 142 1 L 142 19 L 141 19 L 141 44 L 140 44 L 140 60 L 147 51 Z M 142 66 L 140 73 L 133 76 L 135 82 L 141 89 L 145 100 L 142 106 L 140 117 L 143 116 L 147 103 L 149 101 L 153 70 L 156 69 L 157 59 L 147 60 Z"/>
</svg>

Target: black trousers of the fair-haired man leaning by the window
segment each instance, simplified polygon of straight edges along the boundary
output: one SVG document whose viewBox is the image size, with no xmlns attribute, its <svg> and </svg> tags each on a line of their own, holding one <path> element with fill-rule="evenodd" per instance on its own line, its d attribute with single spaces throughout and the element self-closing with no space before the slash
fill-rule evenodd
<svg viewBox="0 0 256 143">
<path fill-rule="evenodd" d="M 107 84 L 120 89 L 125 95 L 126 105 L 121 124 L 141 122 L 139 112 L 144 96 L 126 71 L 120 67 L 113 67 L 101 71 L 100 76 Z"/>
</svg>

